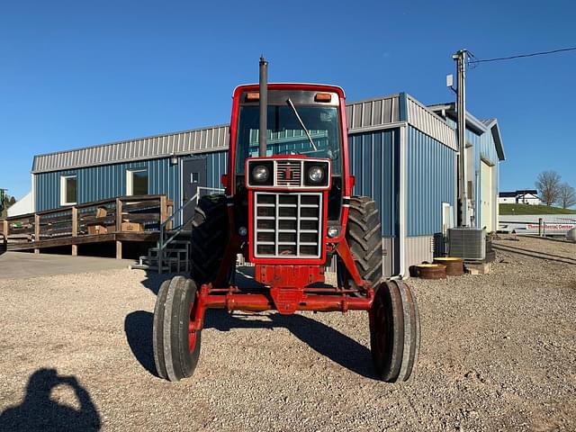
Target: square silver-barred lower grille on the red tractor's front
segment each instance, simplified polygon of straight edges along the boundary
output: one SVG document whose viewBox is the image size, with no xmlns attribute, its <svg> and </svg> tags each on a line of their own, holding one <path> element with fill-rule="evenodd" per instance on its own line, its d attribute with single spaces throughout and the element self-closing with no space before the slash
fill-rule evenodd
<svg viewBox="0 0 576 432">
<path fill-rule="evenodd" d="M 320 258 L 322 193 L 254 193 L 254 256 Z"/>
</svg>

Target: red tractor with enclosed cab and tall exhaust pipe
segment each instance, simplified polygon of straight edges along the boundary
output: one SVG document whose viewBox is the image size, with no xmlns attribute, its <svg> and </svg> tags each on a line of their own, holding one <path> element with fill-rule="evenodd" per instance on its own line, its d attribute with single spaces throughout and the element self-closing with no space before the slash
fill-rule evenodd
<svg viewBox="0 0 576 432">
<path fill-rule="evenodd" d="M 204 313 L 368 311 L 377 376 L 406 381 L 419 351 L 416 298 L 382 282 L 376 203 L 354 196 L 344 91 L 334 85 L 267 84 L 234 90 L 225 194 L 203 196 L 192 222 L 192 275 L 161 285 L 154 310 L 157 374 L 189 377 L 200 356 Z M 235 284 L 237 255 L 254 286 Z M 338 286 L 325 269 L 338 263 Z"/>
</svg>

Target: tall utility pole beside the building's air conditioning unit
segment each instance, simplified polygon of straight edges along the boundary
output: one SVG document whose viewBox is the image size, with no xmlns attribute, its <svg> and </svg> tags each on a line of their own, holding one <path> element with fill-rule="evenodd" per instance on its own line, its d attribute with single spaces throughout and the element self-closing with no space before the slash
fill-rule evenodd
<svg viewBox="0 0 576 432">
<path fill-rule="evenodd" d="M 456 89 L 456 114 L 458 131 L 458 226 L 467 227 L 468 218 L 468 196 L 466 184 L 466 49 L 455 52 L 452 58 L 456 62 L 456 72 L 458 82 Z"/>
</svg>

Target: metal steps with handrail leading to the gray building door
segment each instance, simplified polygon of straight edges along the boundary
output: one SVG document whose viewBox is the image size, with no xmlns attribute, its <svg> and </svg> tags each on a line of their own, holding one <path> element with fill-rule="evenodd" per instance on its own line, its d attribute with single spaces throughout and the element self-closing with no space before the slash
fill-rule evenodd
<svg viewBox="0 0 576 432">
<path fill-rule="evenodd" d="M 203 193 L 202 193 L 203 191 Z M 184 220 L 184 209 L 196 205 L 205 193 L 222 193 L 224 189 L 215 187 L 198 187 L 190 200 L 175 209 L 164 222 L 160 224 L 160 237 L 156 247 L 148 248 L 148 255 L 139 257 L 139 264 L 130 266 L 134 269 L 157 270 L 162 273 L 190 272 L 190 233 L 191 218 Z M 180 214 L 180 225 L 173 227 L 175 216 Z"/>
</svg>

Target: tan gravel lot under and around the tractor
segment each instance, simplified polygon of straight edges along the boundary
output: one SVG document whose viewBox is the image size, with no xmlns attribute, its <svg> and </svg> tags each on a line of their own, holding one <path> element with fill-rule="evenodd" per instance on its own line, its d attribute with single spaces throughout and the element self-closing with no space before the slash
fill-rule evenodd
<svg viewBox="0 0 576 432">
<path fill-rule="evenodd" d="M 157 275 L 0 280 L 0 430 L 576 430 L 576 245 L 495 245 L 491 275 L 410 281 L 423 333 L 403 384 L 374 380 L 363 312 L 211 311 L 193 378 L 167 383 Z"/>
</svg>

